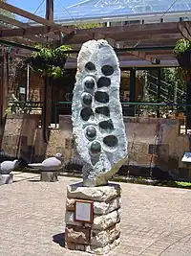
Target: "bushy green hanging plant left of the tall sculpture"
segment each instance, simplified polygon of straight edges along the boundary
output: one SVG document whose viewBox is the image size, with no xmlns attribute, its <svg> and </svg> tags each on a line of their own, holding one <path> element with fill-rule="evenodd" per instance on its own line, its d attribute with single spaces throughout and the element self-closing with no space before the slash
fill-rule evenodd
<svg viewBox="0 0 191 256">
<path fill-rule="evenodd" d="M 70 54 L 66 51 L 72 50 L 70 46 L 62 45 L 55 49 L 37 47 L 38 52 L 32 54 L 26 62 L 30 64 L 32 70 L 42 77 L 61 78 L 64 76 L 64 65 Z"/>
</svg>

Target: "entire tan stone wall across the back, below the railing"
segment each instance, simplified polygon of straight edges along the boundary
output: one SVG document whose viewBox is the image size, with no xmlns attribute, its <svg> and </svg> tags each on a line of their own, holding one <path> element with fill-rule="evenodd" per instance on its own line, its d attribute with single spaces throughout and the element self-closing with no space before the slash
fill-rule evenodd
<svg viewBox="0 0 191 256">
<path fill-rule="evenodd" d="M 74 147 L 71 116 L 59 116 L 59 128 L 50 130 L 49 144 L 43 142 L 39 128 L 40 115 L 9 116 L 2 149 L 30 161 L 41 161 L 59 151 L 66 162 L 78 157 Z M 127 165 L 132 175 L 144 175 L 138 167 L 157 166 L 174 171 L 180 177 L 191 177 L 189 167 L 181 162 L 184 151 L 190 151 L 190 136 L 180 134 L 178 119 L 124 117 L 128 140 Z M 121 173 L 127 173 L 127 166 Z"/>
</svg>

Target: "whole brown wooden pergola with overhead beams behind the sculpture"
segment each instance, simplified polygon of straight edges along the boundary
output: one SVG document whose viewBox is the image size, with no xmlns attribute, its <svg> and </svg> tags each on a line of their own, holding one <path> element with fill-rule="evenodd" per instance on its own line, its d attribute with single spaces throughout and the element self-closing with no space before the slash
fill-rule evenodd
<svg viewBox="0 0 191 256">
<path fill-rule="evenodd" d="M 76 68 L 76 55 L 82 45 L 90 39 L 107 39 L 114 47 L 121 68 L 131 69 L 130 101 L 134 101 L 133 87 L 136 78 L 134 67 L 177 66 L 173 49 L 180 37 L 191 39 L 191 22 L 168 22 L 125 25 L 118 27 L 100 27 L 94 29 L 77 29 L 74 26 L 62 26 L 53 21 L 53 0 L 46 0 L 46 18 L 26 12 L 0 1 L 0 9 L 12 12 L 34 23 L 24 23 L 0 14 L 0 20 L 11 24 L 12 28 L 0 28 L 0 44 L 11 46 L 11 55 L 26 57 L 36 49 L 36 43 L 44 45 L 71 45 L 71 57 L 66 68 Z M 4 116 L 7 100 L 7 82 L 5 75 L 6 51 L 2 47 L 1 84 L 0 84 L 0 120 Z M 46 91 L 45 85 L 45 91 Z M 46 93 L 45 93 L 46 97 Z M 45 99 L 46 100 L 46 99 Z M 46 113 L 46 109 L 44 109 Z M 48 115 L 48 114 L 47 114 Z M 45 115 L 46 116 L 46 115 Z M 46 118 L 44 122 L 47 124 Z M 46 125 L 47 126 L 47 125 Z"/>
</svg>

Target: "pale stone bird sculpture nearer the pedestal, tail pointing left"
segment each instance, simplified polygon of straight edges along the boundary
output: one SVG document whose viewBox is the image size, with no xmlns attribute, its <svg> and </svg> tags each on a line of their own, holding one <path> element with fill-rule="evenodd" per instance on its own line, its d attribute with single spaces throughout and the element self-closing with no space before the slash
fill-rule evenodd
<svg viewBox="0 0 191 256">
<path fill-rule="evenodd" d="M 41 171 L 58 171 L 63 166 L 62 154 L 57 152 L 53 157 L 45 159 L 42 163 L 29 164 L 32 167 Z"/>
</svg>

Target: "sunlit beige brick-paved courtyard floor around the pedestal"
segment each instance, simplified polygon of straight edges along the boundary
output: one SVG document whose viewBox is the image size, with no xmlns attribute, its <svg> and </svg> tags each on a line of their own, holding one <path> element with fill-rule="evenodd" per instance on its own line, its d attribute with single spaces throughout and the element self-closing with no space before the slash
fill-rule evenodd
<svg viewBox="0 0 191 256">
<path fill-rule="evenodd" d="M 0 186 L 0 256 L 83 256 L 64 248 L 66 186 L 16 173 Z M 121 244 L 108 256 L 190 256 L 191 191 L 121 183 Z"/>
</svg>

